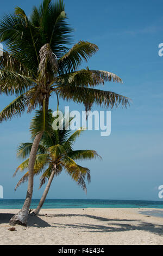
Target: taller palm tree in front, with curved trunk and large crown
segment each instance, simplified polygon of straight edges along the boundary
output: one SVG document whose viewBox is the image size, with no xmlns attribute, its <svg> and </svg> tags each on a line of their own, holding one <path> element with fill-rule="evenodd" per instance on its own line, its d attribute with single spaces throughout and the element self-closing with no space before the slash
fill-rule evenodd
<svg viewBox="0 0 163 256">
<path fill-rule="evenodd" d="M 52 94 L 76 103 L 83 103 L 86 110 L 93 104 L 106 108 L 127 106 L 129 99 L 120 94 L 97 90 L 95 86 L 105 81 L 122 82 L 110 72 L 78 70 L 82 61 L 87 61 L 98 47 L 87 41 L 79 41 L 72 49 L 72 29 L 67 25 L 62 0 L 52 4 L 43 0 L 40 8 L 32 11 L 30 18 L 21 8 L 13 15 L 6 15 L 0 21 L 0 41 L 8 51 L 0 58 L 0 94 L 14 95 L 16 98 L 0 113 L 0 122 L 10 120 L 36 109 L 44 111 L 44 121 Z M 43 131 L 34 139 L 29 157 L 29 179 L 27 196 L 22 210 L 10 220 L 10 224 L 27 224 L 28 211 L 33 193 L 34 164 Z"/>
</svg>

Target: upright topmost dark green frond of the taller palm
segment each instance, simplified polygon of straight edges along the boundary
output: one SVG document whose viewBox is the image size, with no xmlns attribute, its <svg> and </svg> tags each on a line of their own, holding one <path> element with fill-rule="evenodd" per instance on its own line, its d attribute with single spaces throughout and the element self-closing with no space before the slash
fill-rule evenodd
<svg viewBox="0 0 163 256">
<path fill-rule="evenodd" d="M 52 3 L 45 0 L 40 8 L 33 8 L 30 16 L 31 24 L 37 28 L 37 49 L 49 43 L 52 51 L 60 58 L 72 41 L 72 29 L 66 22 L 65 6 L 62 0 Z M 35 38 L 35 37 L 34 37 Z"/>
</svg>

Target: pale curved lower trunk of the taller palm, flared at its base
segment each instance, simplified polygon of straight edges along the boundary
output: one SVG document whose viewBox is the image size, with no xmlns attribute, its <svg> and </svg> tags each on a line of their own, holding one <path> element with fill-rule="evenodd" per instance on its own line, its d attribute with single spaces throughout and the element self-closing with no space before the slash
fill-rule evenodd
<svg viewBox="0 0 163 256">
<path fill-rule="evenodd" d="M 40 140 L 42 138 L 43 132 L 39 133 L 36 135 L 32 150 L 30 152 L 30 157 L 29 157 L 29 180 L 28 180 L 28 189 L 27 189 L 27 196 L 26 200 L 24 202 L 24 205 L 20 212 L 18 212 L 16 215 L 14 215 L 10 219 L 10 224 L 11 225 L 23 225 L 27 226 L 27 219 L 28 219 L 28 213 L 29 213 L 29 207 L 30 203 L 32 200 L 32 194 L 33 194 L 33 180 L 34 180 L 34 164 L 35 164 L 35 158 L 37 154 L 37 150 L 40 144 Z"/>
</svg>

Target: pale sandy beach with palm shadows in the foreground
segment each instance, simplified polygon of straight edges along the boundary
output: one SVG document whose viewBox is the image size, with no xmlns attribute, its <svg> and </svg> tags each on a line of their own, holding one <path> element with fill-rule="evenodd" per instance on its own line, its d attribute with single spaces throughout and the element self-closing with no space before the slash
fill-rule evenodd
<svg viewBox="0 0 163 256">
<path fill-rule="evenodd" d="M 163 218 L 139 213 L 151 210 L 44 209 L 9 231 L 18 210 L 0 209 L 0 245 L 163 245 Z"/>
</svg>

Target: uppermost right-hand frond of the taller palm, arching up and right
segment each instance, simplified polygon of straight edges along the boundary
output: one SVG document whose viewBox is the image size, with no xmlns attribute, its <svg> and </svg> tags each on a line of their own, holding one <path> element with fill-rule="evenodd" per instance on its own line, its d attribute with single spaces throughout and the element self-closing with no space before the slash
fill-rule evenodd
<svg viewBox="0 0 163 256">
<path fill-rule="evenodd" d="M 74 72 L 74 70 L 76 70 L 76 68 L 82 63 L 83 59 L 87 61 L 97 51 L 97 45 L 87 41 L 79 41 L 70 51 L 59 59 L 59 73 L 63 74 Z"/>
</svg>

